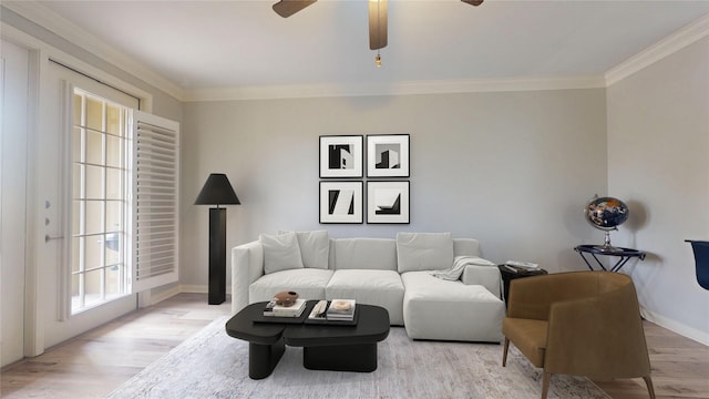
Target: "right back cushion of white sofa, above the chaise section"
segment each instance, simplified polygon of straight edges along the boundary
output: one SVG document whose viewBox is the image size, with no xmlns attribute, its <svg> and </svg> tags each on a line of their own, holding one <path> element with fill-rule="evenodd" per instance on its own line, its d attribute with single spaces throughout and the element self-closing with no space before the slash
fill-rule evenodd
<svg viewBox="0 0 709 399">
<path fill-rule="evenodd" d="M 451 233 L 397 234 L 399 273 L 442 270 L 453 266 Z"/>
</svg>

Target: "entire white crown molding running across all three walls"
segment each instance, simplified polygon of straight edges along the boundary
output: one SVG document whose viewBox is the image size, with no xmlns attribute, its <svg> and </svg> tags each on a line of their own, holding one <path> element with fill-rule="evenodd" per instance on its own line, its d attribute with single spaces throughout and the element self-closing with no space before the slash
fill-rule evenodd
<svg viewBox="0 0 709 399">
<path fill-rule="evenodd" d="M 255 85 L 225 89 L 184 89 L 160 73 L 107 45 L 76 24 L 35 1 L 9 1 L 6 7 L 92 54 L 116 65 L 179 101 L 230 101 L 364 95 L 450 94 L 505 91 L 603 89 L 709 35 L 709 14 L 662 39 L 600 75 L 432 80 L 398 83 Z"/>
</svg>

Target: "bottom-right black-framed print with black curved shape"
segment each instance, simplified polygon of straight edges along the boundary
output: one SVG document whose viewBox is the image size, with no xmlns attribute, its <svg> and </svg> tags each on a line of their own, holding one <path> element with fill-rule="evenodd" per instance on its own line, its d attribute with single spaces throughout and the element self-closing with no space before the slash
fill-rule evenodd
<svg viewBox="0 0 709 399">
<path fill-rule="evenodd" d="M 367 182 L 367 223 L 410 223 L 409 181 Z"/>
</svg>

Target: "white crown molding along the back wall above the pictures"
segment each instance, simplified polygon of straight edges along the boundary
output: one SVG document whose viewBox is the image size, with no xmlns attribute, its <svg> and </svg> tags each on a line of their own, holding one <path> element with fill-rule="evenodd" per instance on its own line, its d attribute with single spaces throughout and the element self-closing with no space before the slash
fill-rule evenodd
<svg viewBox="0 0 709 399">
<path fill-rule="evenodd" d="M 451 94 L 605 88 L 603 75 L 495 80 L 412 81 L 366 84 L 263 85 L 185 91 L 185 101 L 307 99 L 363 95 Z"/>
</svg>

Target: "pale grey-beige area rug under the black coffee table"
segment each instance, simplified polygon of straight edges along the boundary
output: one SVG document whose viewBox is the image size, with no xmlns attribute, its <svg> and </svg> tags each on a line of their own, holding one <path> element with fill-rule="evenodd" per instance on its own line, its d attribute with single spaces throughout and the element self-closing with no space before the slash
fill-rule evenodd
<svg viewBox="0 0 709 399">
<path fill-rule="evenodd" d="M 507 367 L 495 344 L 411 340 L 392 327 L 373 372 L 315 371 L 302 348 L 286 347 L 274 372 L 248 378 L 248 342 L 226 335 L 219 318 L 107 398 L 465 398 L 537 399 L 540 370 L 511 347 Z M 552 376 L 548 398 L 610 398 L 583 377 Z"/>
</svg>

